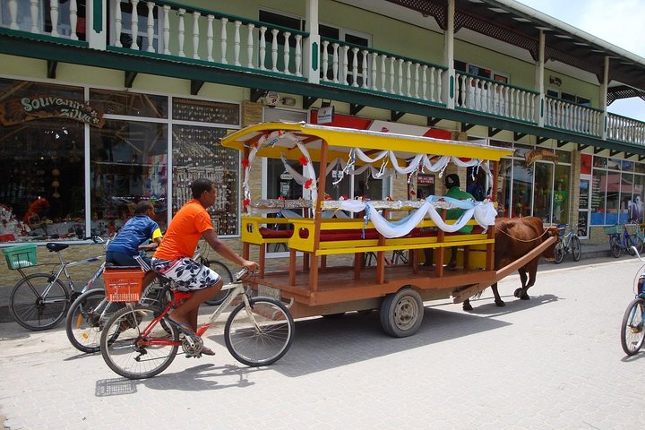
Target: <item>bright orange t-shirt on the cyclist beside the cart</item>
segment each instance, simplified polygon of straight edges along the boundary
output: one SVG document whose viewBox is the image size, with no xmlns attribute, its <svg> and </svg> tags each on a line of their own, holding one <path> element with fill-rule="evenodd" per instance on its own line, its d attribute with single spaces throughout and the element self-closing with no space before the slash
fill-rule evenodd
<svg viewBox="0 0 645 430">
<path fill-rule="evenodd" d="M 212 229 L 211 215 L 204 209 L 202 203 L 193 199 L 185 203 L 176 213 L 175 218 L 170 221 L 170 226 L 154 256 L 161 260 L 193 258 L 202 233 Z"/>
</svg>

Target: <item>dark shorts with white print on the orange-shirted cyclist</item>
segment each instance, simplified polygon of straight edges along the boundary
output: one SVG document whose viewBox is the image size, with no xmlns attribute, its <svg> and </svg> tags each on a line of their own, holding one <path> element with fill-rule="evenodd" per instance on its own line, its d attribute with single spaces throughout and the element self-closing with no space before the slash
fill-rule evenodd
<svg viewBox="0 0 645 430">
<path fill-rule="evenodd" d="M 195 291 L 217 284 L 221 277 L 192 258 L 181 257 L 176 260 L 152 258 L 152 270 L 173 280 L 179 291 Z"/>
</svg>

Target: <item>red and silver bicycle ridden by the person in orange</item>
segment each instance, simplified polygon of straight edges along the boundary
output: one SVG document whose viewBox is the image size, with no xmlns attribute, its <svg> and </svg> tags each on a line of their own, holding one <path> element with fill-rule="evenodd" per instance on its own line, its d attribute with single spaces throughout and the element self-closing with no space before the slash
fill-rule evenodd
<svg viewBox="0 0 645 430">
<path fill-rule="evenodd" d="M 142 379 L 166 370 L 179 347 L 186 357 L 201 357 L 202 335 L 236 297 L 241 297 L 242 302 L 228 314 L 224 326 L 228 351 L 246 366 L 275 363 L 291 346 L 293 317 L 287 306 L 275 298 L 251 297 L 250 288 L 244 284 L 249 276 L 254 274 L 245 269 L 236 273 L 236 281 L 224 286 L 231 290 L 228 297 L 196 333 L 180 330 L 165 319 L 171 307 L 191 293 L 175 291 L 163 310 L 151 305 L 128 305 L 118 311 L 101 332 L 101 355 L 107 366 L 125 378 Z"/>
</svg>

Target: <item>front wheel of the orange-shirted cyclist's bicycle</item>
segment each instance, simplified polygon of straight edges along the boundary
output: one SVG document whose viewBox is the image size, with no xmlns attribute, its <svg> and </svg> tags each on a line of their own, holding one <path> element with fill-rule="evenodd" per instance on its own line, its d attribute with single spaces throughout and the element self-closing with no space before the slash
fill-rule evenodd
<svg viewBox="0 0 645 430">
<path fill-rule="evenodd" d="M 249 298 L 228 315 L 224 340 L 228 351 L 246 366 L 269 366 L 291 346 L 296 326 L 287 306 L 270 297 Z"/>
</svg>

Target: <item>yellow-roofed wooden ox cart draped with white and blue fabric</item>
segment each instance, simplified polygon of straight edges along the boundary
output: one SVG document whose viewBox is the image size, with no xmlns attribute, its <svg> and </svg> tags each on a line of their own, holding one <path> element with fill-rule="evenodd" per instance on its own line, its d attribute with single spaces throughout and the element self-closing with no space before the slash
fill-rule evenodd
<svg viewBox="0 0 645 430">
<path fill-rule="evenodd" d="M 494 202 L 432 195 L 408 200 L 410 175 L 463 174 L 473 167 L 496 176 L 497 161 L 512 150 L 303 123 L 252 125 L 230 133 L 222 144 L 243 153 L 241 240 L 245 258 L 252 249 L 259 254 L 254 289 L 288 302 L 294 317 L 378 309 L 384 331 L 409 336 L 421 324 L 424 301 L 453 297 L 455 303 L 463 302 L 555 240 L 495 271 Z M 303 185 L 303 198 L 262 199 L 260 186 L 253 186 L 261 183 L 260 169 L 254 167 L 262 158 L 281 160 L 285 172 Z M 383 201 L 331 200 L 325 193 L 365 171 L 402 181 L 398 194 L 403 198 L 393 193 Z M 496 181 L 492 184 L 495 188 Z M 460 218 L 446 219 L 447 211 L 455 208 L 463 211 Z M 472 231 L 460 234 L 467 225 Z M 288 250 L 288 264 L 280 270 L 265 269 L 271 244 Z M 386 254 L 394 250 L 407 251 L 408 262 L 388 264 Z M 443 264 L 452 252 L 457 253 L 457 267 L 446 271 Z M 433 255 L 433 271 L 421 264 L 428 253 Z M 366 255 L 375 255 L 375 265 L 366 264 Z"/>
</svg>

